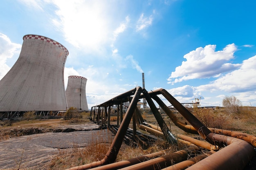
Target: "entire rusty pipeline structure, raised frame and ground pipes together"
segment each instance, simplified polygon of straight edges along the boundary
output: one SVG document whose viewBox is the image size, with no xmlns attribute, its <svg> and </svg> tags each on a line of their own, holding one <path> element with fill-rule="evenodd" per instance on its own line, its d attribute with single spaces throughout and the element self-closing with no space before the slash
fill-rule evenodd
<svg viewBox="0 0 256 170">
<path fill-rule="evenodd" d="M 184 123 L 164 104 L 160 99 L 165 98 L 177 111 L 189 122 Z M 150 107 L 158 126 L 148 124 L 144 121 L 137 103 L 140 99 L 145 98 Z M 166 115 L 173 123 L 185 132 L 199 134 L 203 140 L 198 140 L 186 135 L 181 135 L 171 130 L 166 125 L 162 115 L 155 106 L 155 102 L 164 110 Z M 123 117 L 123 105 L 129 102 L 129 106 Z M 157 89 L 154 91 L 146 91 L 145 88 L 136 87 L 118 95 L 107 102 L 93 106 L 90 113 L 90 119 L 98 124 L 113 129 L 110 124 L 111 109 L 117 105 L 117 127 L 115 138 L 106 153 L 100 161 L 88 163 L 81 166 L 70 168 L 69 170 L 243 170 L 244 167 L 255 157 L 256 137 L 240 132 L 230 130 L 222 130 L 208 128 L 202 124 L 189 110 L 187 110 L 180 102 L 178 102 L 165 89 Z M 129 160 L 115 162 L 122 142 L 126 139 L 127 130 L 132 120 L 132 131 L 128 132 L 133 136 L 133 140 L 137 140 L 137 144 L 146 145 L 147 141 L 141 139 L 138 135 L 137 128 L 145 130 L 155 137 L 166 140 L 171 145 L 177 142 L 183 142 L 188 145 L 184 150 L 178 150 L 169 155 L 164 155 L 164 150 L 148 154 Z M 120 125 L 119 125 L 120 123 Z M 153 139 L 151 140 L 153 141 Z M 204 154 L 197 151 L 203 148 L 207 150 Z M 194 157 L 187 159 L 191 153 Z"/>
</svg>

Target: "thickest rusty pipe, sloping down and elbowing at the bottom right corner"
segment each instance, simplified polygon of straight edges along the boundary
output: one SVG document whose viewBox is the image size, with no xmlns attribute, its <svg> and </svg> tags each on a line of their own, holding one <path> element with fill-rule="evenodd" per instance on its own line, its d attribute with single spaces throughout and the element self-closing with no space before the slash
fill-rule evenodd
<svg viewBox="0 0 256 170">
<path fill-rule="evenodd" d="M 152 93 L 162 94 L 171 104 L 173 104 L 173 106 L 180 112 L 180 114 L 182 114 L 182 116 L 187 121 L 189 121 L 189 123 L 205 140 L 214 145 L 226 146 L 215 154 L 191 166 L 188 168 L 188 170 L 243 169 L 243 167 L 254 156 L 254 148 L 249 143 L 234 137 L 227 137 L 225 135 L 212 133 L 206 126 L 204 126 L 204 124 L 202 124 L 202 122 L 200 122 L 194 115 L 192 115 L 189 110 L 182 106 L 182 104 L 180 104 L 166 90 L 159 89 L 153 91 Z"/>
</svg>

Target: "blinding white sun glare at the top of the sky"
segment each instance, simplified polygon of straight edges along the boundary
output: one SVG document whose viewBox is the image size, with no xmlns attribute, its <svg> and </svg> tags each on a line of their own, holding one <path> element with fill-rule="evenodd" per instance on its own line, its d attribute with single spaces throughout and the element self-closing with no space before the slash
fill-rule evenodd
<svg viewBox="0 0 256 170">
<path fill-rule="evenodd" d="M 74 46 L 97 49 L 108 40 L 108 16 L 103 4 L 66 1 L 56 3 L 65 38 Z"/>
</svg>

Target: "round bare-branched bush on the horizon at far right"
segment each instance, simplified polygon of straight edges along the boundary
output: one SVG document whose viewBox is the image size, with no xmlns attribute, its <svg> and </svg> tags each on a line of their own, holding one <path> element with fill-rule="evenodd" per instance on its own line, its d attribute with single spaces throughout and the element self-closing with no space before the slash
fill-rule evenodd
<svg viewBox="0 0 256 170">
<path fill-rule="evenodd" d="M 226 112 L 229 114 L 241 112 L 242 102 L 240 102 L 240 100 L 237 99 L 235 96 L 224 97 L 224 99 L 222 100 L 222 105 L 226 108 Z"/>
</svg>

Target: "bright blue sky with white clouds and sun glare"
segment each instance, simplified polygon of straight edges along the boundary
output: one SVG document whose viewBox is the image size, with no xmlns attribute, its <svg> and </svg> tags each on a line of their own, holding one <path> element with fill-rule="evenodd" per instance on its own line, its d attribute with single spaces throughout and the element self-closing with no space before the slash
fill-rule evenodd
<svg viewBox="0 0 256 170">
<path fill-rule="evenodd" d="M 89 109 L 142 87 L 180 103 L 256 106 L 256 1 L 0 0 L 0 79 L 27 34 L 67 48 L 64 79 L 87 78 Z M 169 106 L 165 100 L 164 102 Z"/>
</svg>

